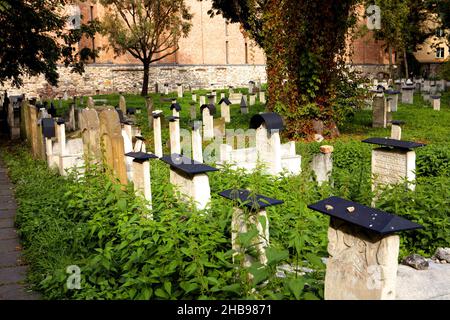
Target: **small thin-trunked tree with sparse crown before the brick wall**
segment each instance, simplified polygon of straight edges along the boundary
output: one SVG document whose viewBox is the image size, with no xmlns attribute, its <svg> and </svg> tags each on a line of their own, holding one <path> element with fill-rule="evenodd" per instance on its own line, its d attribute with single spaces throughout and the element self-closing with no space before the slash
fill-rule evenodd
<svg viewBox="0 0 450 320">
<path fill-rule="evenodd" d="M 191 29 L 184 0 L 100 0 L 108 14 L 102 33 L 118 55 L 129 53 L 144 66 L 142 96 L 148 94 L 150 64 L 178 51 L 178 40 Z"/>
</svg>

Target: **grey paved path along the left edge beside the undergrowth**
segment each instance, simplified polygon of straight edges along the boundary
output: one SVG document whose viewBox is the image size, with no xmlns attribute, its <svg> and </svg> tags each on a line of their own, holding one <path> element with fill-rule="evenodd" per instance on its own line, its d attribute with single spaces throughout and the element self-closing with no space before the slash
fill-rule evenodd
<svg viewBox="0 0 450 320">
<path fill-rule="evenodd" d="M 0 300 L 38 300 L 39 295 L 25 284 L 27 266 L 14 228 L 16 209 L 13 185 L 0 161 Z"/>
</svg>

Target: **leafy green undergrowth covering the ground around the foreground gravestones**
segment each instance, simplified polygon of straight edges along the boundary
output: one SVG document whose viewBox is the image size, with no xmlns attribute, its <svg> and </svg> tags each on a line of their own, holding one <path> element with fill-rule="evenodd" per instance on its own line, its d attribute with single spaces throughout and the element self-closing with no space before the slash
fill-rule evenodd
<svg viewBox="0 0 450 320">
<path fill-rule="evenodd" d="M 144 99 L 125 98 L 127 107 L 141 109 L 136 122 L 152 150 Z M 106 99 L 112 106 L 119 102 L 118 95 L 94 99 Z M 171 115 L 170 101 L 156 94 L 153 101 L 153 110 Z M 180 125 L 188 128 L 191 94 L 177 101 L 182 106 Z M 417 150 L 416 189 L 399 184 L 384 190 L 376 202 L 377 208 L 425 227 L 400 235 L 400 260 L 412 253 L 431 257 L 438 247 L 450 244 L 450 93 L 443 95 L 441 111 L 434 111 L 419 95 L 415 101 L 400 103 L 393 119 L 406 122 L 404 140 L 427 144 Z M 64 102 L 58 112 L 63 114 L 67 106 Z M 264 107 L 256 104 L 242 115 L 239 105 L 233 105 L 227 129 L 247 129 L 251 116 L 261 111 Z M 199 110 L 197 117 L 201 118 Z M 371 111 L 361 110 L 340 125 L 341 137 L 322 143 L 299 141 L 299 176 L 273 178 L 261 171 L 246 174 L 229 168 L 210 173 L 212 199 L 206 211 L 178 201 L 167 183 L 167 165 L 152 161 L 153 220 L 144 218 L 148 210 L 132 187 L 111 183 L 101 167 L 78 179 L 61 177 L 33 160 L 26 147 L 4 146 L 1 157 L 16 186 L 16 226 L 29 264 L 28 281 L 47 299 L 322 299 L 329 219 L 307 205 L 332 195 L 371 204 L 372 146 L 361 140 L 390 136 L 389 128 L 371 124 Z M 163 128 L 163 141 L 168 141 L 167 125 Z M 334 146 L 333 172 L 331 183 L 318 186 L 310 161 L 321 144 Z M 168 146 L 164 148 L 167 153 Z M 266 266 L 236 268 L 242 256 L 233 262 L 233 204 L 218 195 L 233 188 L 284 201 L 267 209 Z M 249 253 L 255 232 L 241 235 Z M 80 268 L 81 289 L 67 288 L 68 266 Z"/>
</svg>

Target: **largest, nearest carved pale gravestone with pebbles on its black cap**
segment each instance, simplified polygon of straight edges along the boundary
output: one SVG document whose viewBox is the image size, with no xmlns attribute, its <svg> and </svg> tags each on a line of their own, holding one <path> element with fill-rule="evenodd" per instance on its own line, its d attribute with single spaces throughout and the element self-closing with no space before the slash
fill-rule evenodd
<svg viewBox="0 0 450 320">
<path fill-rule="evenodd" d="M 400 239 L 422 226 L 338 197 L 308 206 L 331 216 L 325 300 L 393 300 Z"/>
</svg>

